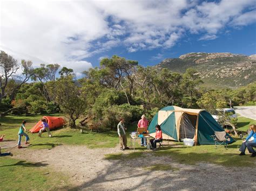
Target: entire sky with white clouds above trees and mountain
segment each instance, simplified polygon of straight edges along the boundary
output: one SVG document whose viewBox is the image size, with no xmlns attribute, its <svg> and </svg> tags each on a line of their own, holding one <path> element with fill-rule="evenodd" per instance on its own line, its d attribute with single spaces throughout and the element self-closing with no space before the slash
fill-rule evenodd
<svg viewBox="0 0 256 191">
<path fill-rule="evenodd" d="M 190 52 L 256 54 L 256 0 L 0 0 L 0 49 L 77 76 L 119 55 L 152 66 Z"/>
</svg>

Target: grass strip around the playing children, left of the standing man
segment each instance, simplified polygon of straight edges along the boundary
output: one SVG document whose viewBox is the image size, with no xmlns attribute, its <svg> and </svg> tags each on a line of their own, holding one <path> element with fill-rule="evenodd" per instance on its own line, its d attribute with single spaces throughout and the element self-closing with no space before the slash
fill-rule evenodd
<svg viewBox="0 0 256 191">
<path fill-rule="evenodd" d="M 56 116 L 56 115 L 55 115 Z M 0 135 L 5 134 L 5 140 L 18 140 L 19 126 L 23 120 L 26 120 L 26 129 L 31 129 L 42 116 L 5 116 L 0 119 Z M 86 145 L 89 148 L 115 147 L 118 142 L 118 135 L 115 131 L 109 132 L 84 132 L 80 133 L 78 129 L 60 128 L 51 131 L 51 138 L 46 132 L 42 137 L 37 133 L 28 133 L 31 146 L 29 148 L 48 148 L 51 149 L 58 145 Z M 25 138 L 23 138 L 22 144 Z"/>
</svg>

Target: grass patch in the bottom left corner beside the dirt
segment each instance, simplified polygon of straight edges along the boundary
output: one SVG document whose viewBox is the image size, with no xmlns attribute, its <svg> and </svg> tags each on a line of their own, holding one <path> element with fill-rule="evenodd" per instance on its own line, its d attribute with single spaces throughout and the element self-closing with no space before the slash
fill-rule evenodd
<svg viewBox="0 0 256 191">
<path fill-rule="evenodd" d="M 1 157 L 1 190 L 56 190 L 64 189 L 69 181 L 63 174 L 53 172 L 47 162 L 32 163 Z"/>
</svg>

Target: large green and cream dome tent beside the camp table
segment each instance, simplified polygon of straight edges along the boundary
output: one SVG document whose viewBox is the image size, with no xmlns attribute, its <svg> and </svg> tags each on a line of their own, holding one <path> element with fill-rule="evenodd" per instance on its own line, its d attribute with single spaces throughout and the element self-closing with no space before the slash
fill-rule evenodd
<svg viewBox="0 0 256 191">
<path fill-rule="evenodd" d="M 156 125 L 161 126 L 163 139 L 180 141 L 190 138 L 200 145 L 214 144 L 211 137 L 214 131 L 224 131 L 206 110 L 184 109 L 177 106 L 168 106 L 157 112 L 149 125 L 152 137 L 155 136 Z M 230 137 L 228 144 L 233 142 L 235 140 Z"/>
</svg>

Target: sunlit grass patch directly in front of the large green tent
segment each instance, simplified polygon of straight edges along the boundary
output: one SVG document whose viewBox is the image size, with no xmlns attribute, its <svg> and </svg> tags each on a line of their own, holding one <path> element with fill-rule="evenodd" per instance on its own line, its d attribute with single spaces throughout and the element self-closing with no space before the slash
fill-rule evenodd
<svg viewBox="0 0 256 191">
<path fill-rule="evenodd" d="M 223 145 L 215 149 L 214 145 L 200 145 L 193 147 L 165 147 L 165 150 L 154 152 L 158 157 L 170 157 L 177 162 L 196 165 L 198 162 L 223 165 L 227 167 L 254 166 L 255 159 L 249 153 L 239 156 L 239 147 L 242 140 L 228 145 L 226 150 Z M 247 151 L 246 151 L 247 152 Z"/>
</svg>

